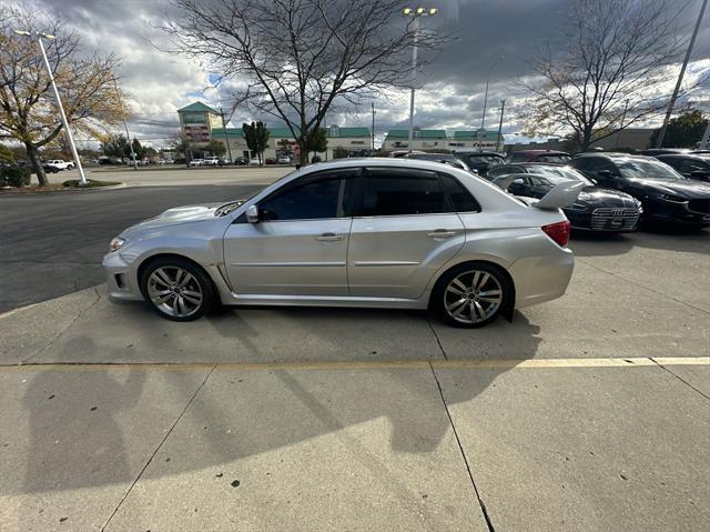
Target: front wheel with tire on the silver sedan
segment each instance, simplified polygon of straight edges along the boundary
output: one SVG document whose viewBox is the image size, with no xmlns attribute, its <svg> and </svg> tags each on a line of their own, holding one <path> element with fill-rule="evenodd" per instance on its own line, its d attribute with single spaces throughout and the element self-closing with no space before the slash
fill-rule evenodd
<svg viewBox="0 0 710 532">
<path fill-rule="evenodd" d="M 162 318 L 194 321 L 214 307 L 212 280 L 202 268 L 180 257 L 151 261 L 141 273 L 141 292 Z"/>
</svg>

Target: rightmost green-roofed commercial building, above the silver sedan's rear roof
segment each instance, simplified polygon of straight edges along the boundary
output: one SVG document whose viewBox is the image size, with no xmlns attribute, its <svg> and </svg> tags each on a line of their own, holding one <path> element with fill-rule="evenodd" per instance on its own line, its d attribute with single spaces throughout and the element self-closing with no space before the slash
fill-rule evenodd
<svg viewBox="0 0 710 532">
<path fill-rule="evenodd" d="M 419 129 L 415 128 L 412 135 L 412 148 L 409 148 L 409 130 L 392 129 L 387 132 L 383 149 L 394 150 L 446 150 L 477 148 L 481 150 L 496 150 L 503 147 L 503 135 L 498 141 L 498 132 L 480 130 L 446 131 L 443 129 Z"/>
</svg>

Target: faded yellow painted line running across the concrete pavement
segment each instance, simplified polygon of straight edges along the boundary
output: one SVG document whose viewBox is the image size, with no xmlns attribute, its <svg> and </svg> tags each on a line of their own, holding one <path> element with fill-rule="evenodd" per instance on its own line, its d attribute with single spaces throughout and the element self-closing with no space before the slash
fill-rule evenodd
<svg viewBox="0 0 710 532">
<path fill-rule="evenodd" d="M 14 371 L 314 371 L 314 370 L 412 370 L 436 369 L 555 369 L 555 368 L 635 368 L 661 365 L 710 365 L 710 357 L 663 357 L 631 359 L 491 359 L 491 360 L 353 360 L 314 362 L 186 362 L 186 363 L 45 363 L 0 365 L 0 372 Z"/>
</svg>

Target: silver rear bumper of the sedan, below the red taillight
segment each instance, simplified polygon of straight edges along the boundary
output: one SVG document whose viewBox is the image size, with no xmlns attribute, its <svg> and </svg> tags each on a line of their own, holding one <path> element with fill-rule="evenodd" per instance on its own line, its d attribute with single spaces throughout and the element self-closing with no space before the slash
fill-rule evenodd
<svg viewBox="0 0 710 532">
<path fill-rule="evenodd" d="M 544 257 L 515 261 L 508 271 L 515 283 L 516 308 L 561 298 L 575 269 L 575 255 L 567 248 Z"/>
</svg>

